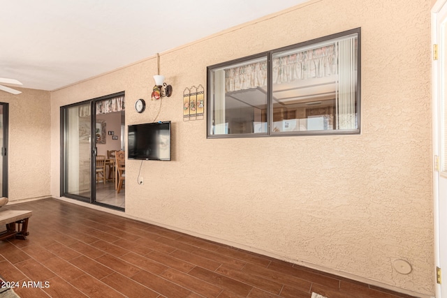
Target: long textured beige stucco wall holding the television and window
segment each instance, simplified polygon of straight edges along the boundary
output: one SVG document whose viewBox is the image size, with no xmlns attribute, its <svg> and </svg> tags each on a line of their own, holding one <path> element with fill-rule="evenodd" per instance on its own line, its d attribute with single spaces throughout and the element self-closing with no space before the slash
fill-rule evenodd
<svg viewBox="0 0 447 298">
<path fill-rule="evenodd" d="M 431 180 L 432 0 L 320 0 L 161 54 L 171 98 L 151 101 L 154 57 L 52 92 L 59 107 L 126 91 L 126 125 L 173 121 L 173 161 L 126 164 L 126 214 L 284 260 L 434 293 Z M 360 135 L 207 140 L 182 120 L 186 87 L 206 66 L 362 28 Z M 149 34 L 149 33 L 148 33 Z M 147 109 L 134 111 L 138 98 Z M 159 117 L 155 116 L 161 105 Z M 59 159 L 52 158 L 59 195 Z M 398 274 L 393 260 L 411 263 Z"/>
</svg>

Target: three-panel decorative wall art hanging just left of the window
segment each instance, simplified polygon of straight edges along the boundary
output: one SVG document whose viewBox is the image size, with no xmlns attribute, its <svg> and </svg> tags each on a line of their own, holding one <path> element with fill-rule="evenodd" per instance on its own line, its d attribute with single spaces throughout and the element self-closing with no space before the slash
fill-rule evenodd
<svg viewBox="0 0 447 298">
<path fill-rule="evenodd" d="M 183 91 L 183 121 L 203 119 L 205 92 L 203 86 L 185 88 Z"/>
</svg>

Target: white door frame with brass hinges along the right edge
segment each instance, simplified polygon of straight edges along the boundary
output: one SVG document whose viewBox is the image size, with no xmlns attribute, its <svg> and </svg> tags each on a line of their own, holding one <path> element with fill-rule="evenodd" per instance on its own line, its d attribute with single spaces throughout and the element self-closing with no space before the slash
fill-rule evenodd
<svg viewBox="0 0 447 298">
<path fill-rule="evenodd" d="M 439 20 L 439 12 L 441 8 L 446 5 L 447 0 L 437 0 L 432 8 L 432 45 L 439 44 L 439 32 L 437 30 L 437 22 Z M 432 58 L 433 58 L 433 47 L 432 47 Z M 439 76 L 439 61 L 434 61 L 432 59 L 432 117 L 433 117 L 433 131 L 432 131 L 432 151 L 433 151 L 433 165 L 438 163 L 435 156 L 439 156 L 441 152 L 439 151 L 440 145 L 440 131 L 439 131 L 439 121 L 441 119 L 441 111 L 439 108 L 439 94 L 441 94 L 441 86 L 438 80 Z M 433 167 L 434 168 L 434 167 Z M 434 266 L 436 267 L 440 264 L 440 234 L 439 234 L 439 172 L 435 169 L 433 170 L 433 222 L 434 222 Z M 444 268 L 446 270 L 447 268 Z M 447 281 L 444 281 L 447 282 Z M 441 285 L 436 282 L 434 276 L 434 285 L 436 290 L 436 297 L 441 298 Z M 444 293 L 446 295 L 446 293 Z"/>
</svg>

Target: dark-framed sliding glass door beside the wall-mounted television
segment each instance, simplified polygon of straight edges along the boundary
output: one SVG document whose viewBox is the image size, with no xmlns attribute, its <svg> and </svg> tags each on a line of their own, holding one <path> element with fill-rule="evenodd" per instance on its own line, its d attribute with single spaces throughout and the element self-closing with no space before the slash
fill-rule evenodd
<svg viewBox="0 0 447 298">
<path fill-rule="evenodd" d="M 115 173 L 124 114 L 124 92 L 61 107 L 61 197 L 124 211 Z"/>
</svg>

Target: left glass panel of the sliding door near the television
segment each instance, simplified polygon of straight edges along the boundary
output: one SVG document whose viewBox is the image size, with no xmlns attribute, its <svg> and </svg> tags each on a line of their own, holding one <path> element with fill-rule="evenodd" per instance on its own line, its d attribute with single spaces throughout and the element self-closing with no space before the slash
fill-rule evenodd
<svg viewBox="0 0 447 298">
<path fill-rule="evenodd" d="M 91 103 L 61 109 L 64 173 L 61 195 L 91 201 Z"/>
</svg>

